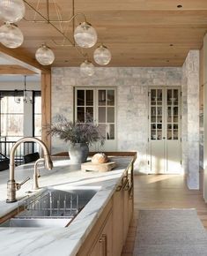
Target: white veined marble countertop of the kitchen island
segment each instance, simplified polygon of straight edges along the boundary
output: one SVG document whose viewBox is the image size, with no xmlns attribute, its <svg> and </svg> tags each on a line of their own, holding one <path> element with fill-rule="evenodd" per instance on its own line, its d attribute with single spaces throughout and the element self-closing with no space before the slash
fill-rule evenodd
<svg viewBox="0 0 207 256">
<path fill-rule="evenodd" d="M 78 165 L 70 165 L 63 157 L 53 159 L 54 169 L 41 168 L 39 185 L 41 188 L 54 186 L 57 189 L 69 189 L 70 186 L 92 186 L 99 191 L 84 207 L 67 228 L 0 228 L 0 255 L 76 255 L 84 243 L 94 223 L 107 205 L 108 200 L 121 182 L 124 170 L 132 161 L 130 156 L 114 157 L 117 167 L 109 172 L 84 172 Z M 32 189 L 33 164 L 22 165 L 15 169 L 15 180 L 21 182 L 31 177 L 17 192 L 17 199 L 23 200 L 26 192 Z M 0 172 L 0 217 L 18 207 L 18 203 L 7 204 L 6 183 L 9 171 Z"/>
</svg>

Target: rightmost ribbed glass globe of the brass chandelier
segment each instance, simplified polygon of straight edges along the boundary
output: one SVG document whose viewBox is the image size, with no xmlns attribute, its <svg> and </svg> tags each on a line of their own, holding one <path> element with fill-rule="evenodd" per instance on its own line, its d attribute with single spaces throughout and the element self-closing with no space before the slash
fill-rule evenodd
<svg viewBox="0 0 207 256">
<path fill-rule="evenodd" d="M 107 65 L 111 60 L 111 52 L 103 44 L 100 45 L 93 53 L 94 61 L 100 65 Z"/>
</svg>

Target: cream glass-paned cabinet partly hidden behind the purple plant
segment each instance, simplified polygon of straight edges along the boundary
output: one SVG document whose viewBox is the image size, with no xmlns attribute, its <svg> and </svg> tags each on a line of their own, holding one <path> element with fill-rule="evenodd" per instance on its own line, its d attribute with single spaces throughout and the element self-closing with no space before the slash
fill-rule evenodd
<svg viewBox="0 0 207 256">
<path fill-rule="evenodd" d="M 85 122 L 92 117 L 99 124 L 100 133 L 105 139 L 103 147 L 100 143 L 93 145 L 91 151 L 116 150 L 116 90 L 115 87 L 76 87 L 75 119 Z"/>
</svg>

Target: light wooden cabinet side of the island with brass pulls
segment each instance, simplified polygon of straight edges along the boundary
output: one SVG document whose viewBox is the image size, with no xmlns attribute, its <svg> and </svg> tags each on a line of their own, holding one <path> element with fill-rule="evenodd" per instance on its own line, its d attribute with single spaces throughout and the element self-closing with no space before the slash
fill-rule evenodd
<svg viewBox="0 0 207 256">
<path fill-rule="evenodd" d="M 129 175 L 129 172 L 132 175 Z M 132 178 L 131 178 L 132 177 Z M 111 200 L 77 256 L 120 256 L 133 213 L 133 166 L 127 169 Z"/>
</svg>

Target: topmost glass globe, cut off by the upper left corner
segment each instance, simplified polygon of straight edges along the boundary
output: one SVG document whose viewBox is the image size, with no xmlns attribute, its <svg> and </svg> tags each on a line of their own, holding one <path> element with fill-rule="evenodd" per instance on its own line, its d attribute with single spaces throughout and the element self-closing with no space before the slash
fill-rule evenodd
<svg viewBox="0 0 207 256">
<path fill-rule="evenodd" d="M 23 19 L 26 12 L 26 6 L 22 0 L 1 0 L 0 1 L 0 19 L 11 23 Z"/>
</svg>

